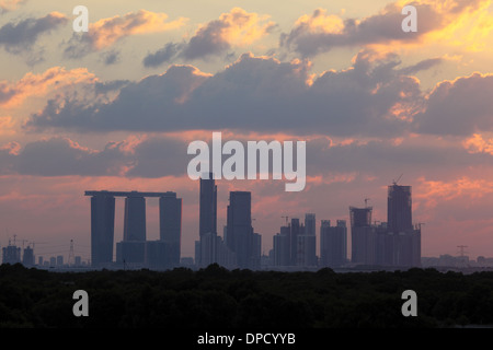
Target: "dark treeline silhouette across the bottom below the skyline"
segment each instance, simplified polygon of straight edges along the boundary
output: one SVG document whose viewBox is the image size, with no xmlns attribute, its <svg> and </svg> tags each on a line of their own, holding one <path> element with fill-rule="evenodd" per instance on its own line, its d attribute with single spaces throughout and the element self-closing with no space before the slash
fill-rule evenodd
<svg viewBox="0 0 493 350">
<path fill-rule="evenodd" d="M 76 317 L 76 290 L 89 317 Z M 417 317 L 404 317 L 404 290 Z M 493 272 L 49 272 L 0 266 L 0 327 L 333 328 L 493 324 Z"/>
</svg>

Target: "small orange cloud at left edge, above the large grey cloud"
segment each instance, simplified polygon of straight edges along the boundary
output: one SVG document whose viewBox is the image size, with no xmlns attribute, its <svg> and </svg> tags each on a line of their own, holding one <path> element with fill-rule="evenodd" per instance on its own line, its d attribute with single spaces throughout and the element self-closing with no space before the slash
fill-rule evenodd
<svg viewBox="0 0 493 350">
<path fill-rule="evenodd" d="M 41 96 L 51 90 L 95 81 L 98 78 L 87 68 L 67 70 L 64 67 L 53 67 L 39 74 L 28 72 L 16 82 L 0 81 L 0 106 L 16 106 L 30 96 Z"/>
</svg>

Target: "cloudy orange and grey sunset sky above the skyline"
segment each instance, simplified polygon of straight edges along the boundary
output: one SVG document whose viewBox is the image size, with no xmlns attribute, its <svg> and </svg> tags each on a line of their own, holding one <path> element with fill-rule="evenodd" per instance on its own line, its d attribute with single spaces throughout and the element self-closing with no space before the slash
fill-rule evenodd
<svg viewBox="0 0 493 350">
<path fill-rule="evenodd" d="M 76 5 L 89 31 L 72 27 Z M 402 8 L 417 10 L 405 33 Z M 493 4 L 419 1 L 0 0 L 0 246 L 90 258 L 84 190 L 175 191 L 182 256 L 198 238 L 187 145 L 307 142 L 307 185 L 252 192 L 263 252 L 282 217 L 348 220 L 387 186 L 412 186 L 422 256 L 493 256 Z M 115 242 L 123 237 L 117 199 Z M 158 201 L 147 200 L 149 240 Z"/>
</svg>

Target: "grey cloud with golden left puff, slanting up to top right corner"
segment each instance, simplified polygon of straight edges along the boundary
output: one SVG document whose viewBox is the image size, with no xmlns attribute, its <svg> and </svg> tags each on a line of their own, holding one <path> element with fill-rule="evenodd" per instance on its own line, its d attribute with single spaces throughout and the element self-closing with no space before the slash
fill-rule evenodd
<svg viewBox="0 0 493 350">
<path fill-rule="evenodd" d="M 341 19 L 317 9 L 311 15 L 303 15 L 289 33 L 280 36 L 280 46 L 295 50 L 303 57 L 325 52 L 335 47 L 355 47 L 374 44 L 419 43 L 428 34 L 457 26 L 462 19 L 470 18 L 485 9 L 490 0 L 420 0 L 408 3 L 394 2 L 379 13 L 359 19 Z M 417 11 L 417 32 L 404 33 L 401 28 L 405 18 L 401 11 L 412 4 Z"/>
</svg>

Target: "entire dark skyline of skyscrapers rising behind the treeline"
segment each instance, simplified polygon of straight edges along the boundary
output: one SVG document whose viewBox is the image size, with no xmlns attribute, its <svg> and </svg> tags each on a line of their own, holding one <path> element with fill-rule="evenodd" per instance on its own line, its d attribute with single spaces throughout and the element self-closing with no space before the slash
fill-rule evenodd
<svg viewBox="0 0 493 350">
<path fill-rule="evenodd" d="M 262 259 L 262 236 L 252 226 L 252 194 L 230 191 L 222 237 L 217 231 L 217 186 L 213 173 L 199 180 L 199 228 L 195 266 L 227 268 L 341 268 L 344 266 L 415 267 L 421 265 L 421 228 L 412 223 L 411 186 L 388 187 L 387 222 L 372 222 L 372 207 L 349 207 L 351 259 L 345 220 L 320 221 L 306 213 L 286 218 L 273 237 L 273 249 Z M 91 198 L 92 265 L 113 261 L 115 197 L 125 197 L 124 237 L 116 244 L 116 262 L 124 266 L 172 268 L 181 264 L 182 199 L 175 192 L 87 191 Z M 159 198 L 160 238 L 147 241 L 146 197 Z M 12 253 L 13 254 L 13 253 Z M 187 261 L 190 265 L 190 261 Z"/>
</svg>

